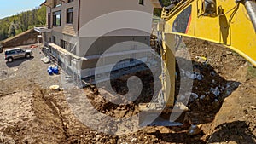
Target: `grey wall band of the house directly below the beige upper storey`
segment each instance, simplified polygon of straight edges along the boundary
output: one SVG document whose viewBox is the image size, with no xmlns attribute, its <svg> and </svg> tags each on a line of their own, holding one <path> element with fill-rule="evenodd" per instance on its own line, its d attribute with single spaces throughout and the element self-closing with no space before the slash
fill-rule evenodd
<svg viewBox="0 0 256 144">
<path fill-rule="evenodd" d="M 122 30 L 123 31 L 123 30 Z M 138 32 L 137 32 L 138 33 Z M 51 32 L 46 39 L 52 39 L 54 36 L 57 45 L 61 46 L 61 39 L 67 43 L 78 43 L 75 55 L 79 57 L 86 57 L 90 55 L 102 55 L 106 50 L 108 53 L 123 52 L 129 50 L 145 49 L 149 47 L 150 37 L 142 32 L 144 36 L 102 36 L 102 37 L 80 37 L 79 42 L 73 36 L 62 34 L 61 32 Z M 52 40 L 49 43 L 53 43 Z M 71 48 L 67 47 L 67 51 Z"/>
</svg>

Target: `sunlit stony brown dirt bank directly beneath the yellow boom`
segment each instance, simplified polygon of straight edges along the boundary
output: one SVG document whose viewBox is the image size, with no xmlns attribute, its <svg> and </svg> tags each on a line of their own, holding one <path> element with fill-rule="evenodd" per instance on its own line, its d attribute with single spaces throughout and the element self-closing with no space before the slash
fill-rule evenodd
<svg viewBox="0 0 256 144">
<path fill-rule="evenodd" d="M 183 41 L 189 49 L 191 59 L 197 61 L 196 56 L 206 57 L 208 64 L 224 79 L 245 81 L 247 73 L 246 60 L 236 52 L 216 43 L 183 37 Z"/>
</svg>

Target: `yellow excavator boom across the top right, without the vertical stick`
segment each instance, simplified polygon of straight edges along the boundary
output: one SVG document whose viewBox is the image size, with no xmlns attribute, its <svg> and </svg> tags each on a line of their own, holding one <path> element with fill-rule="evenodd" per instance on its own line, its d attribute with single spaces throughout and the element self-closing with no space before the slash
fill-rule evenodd
<svg viewBox="0 0 256 144">
<path fill-rule="evenodd" d="M 162 18 L 172 30 L 177 15 L 183 9 L 192 7 L 187 32 L 167 31 L 222 44 L 256 66 L 256 31 L 244 4 L 230 0 L 212 1 L 216 3 L 215 13 L 212 14 L 205 12 L 205 0 L 181 1 L 183 4 L 177 5 L 169 14 L 163 9 Z"/>
</svg>

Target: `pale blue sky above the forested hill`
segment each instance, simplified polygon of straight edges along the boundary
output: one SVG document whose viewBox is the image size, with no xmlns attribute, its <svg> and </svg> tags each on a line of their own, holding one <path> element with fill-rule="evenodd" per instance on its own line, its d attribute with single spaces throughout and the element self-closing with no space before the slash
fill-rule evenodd
<svg viewBox="0 0 256 144">
<path fill-rule="evenodd" d="M 39 7 L 44 0 L 1 0 L 0 19 Z"/>
</svg>

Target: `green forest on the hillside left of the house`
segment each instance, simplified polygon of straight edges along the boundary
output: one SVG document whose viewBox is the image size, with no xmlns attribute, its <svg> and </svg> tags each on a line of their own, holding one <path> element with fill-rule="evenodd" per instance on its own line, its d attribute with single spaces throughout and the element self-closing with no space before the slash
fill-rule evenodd
<svg viewBox="0 0 256 144">
<path fill-rule="evenodd" d="M 0 20 L 0 41 L 26 32 L 34 26 L 45 26 L 46 7 L 42 6 Z"/>
</svg>

